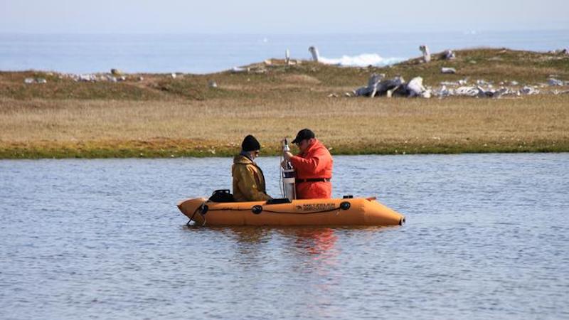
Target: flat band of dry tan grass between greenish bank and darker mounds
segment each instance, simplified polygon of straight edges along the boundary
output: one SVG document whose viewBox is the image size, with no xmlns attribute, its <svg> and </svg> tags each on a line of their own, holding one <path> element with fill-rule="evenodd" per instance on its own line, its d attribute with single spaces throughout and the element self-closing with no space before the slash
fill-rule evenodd
<svg viewBox="0 0 569 320">
<path fill-rule="evenodd" d="M 432 146 L 467 151 L 496 145 L 516 148 L 569 141 L 569 96 L 525 99 L 408 100 L 314 98 L 265 101 L 176 102 L 1 100 L 0 145 L 90 146 L 121 142 L 192 142 L 220 148 L 238 146 L 254 134 L 276 151 L 282 137 L 310 127 L 339 151 L 390 148 L 422 152 Z M 83 145 L 85 147 L 85 145 Z M 128 146 L 124 146 L 128 148 Z M 402 149 L 403 148 L 403 149 Z M 426 150 L 422 150 L 425 149 Z M 482 150 L 483 151 L 483 150 Z"/>
</svg>

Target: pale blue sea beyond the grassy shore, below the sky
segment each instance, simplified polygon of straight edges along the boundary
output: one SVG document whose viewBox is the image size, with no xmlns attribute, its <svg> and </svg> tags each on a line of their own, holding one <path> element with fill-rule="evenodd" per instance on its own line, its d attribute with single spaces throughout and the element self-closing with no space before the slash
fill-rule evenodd
<svg viewBox="0 0 569 320">
<path fill-rule="evenodd" d="M 0 34 L 0 70 L 64 73 L 211 73 L 267 58 L 309 59 L 317 46 L 325 61 L 385 65 L 431 52 L 489 46 L 547 51 L 564 48 L 569 31 L 457 31 L 327 35 L 113 35 Z"/>
</svg>

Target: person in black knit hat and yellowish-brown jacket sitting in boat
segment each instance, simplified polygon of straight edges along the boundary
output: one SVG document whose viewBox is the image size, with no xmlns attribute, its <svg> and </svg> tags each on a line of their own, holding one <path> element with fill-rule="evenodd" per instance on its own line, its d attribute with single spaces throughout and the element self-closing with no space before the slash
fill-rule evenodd
<svg viewBox="0 0 569 320">
<path fill-rule="evenodd" d="M 237 202 L 263 201 L 271 197 L 265 191 L 265 176 L 255 158 L 259 156 L 261 145 L 252 135 L 243 139 L 241 152 L 233 158 L 233 198 Z"/>
</svg>

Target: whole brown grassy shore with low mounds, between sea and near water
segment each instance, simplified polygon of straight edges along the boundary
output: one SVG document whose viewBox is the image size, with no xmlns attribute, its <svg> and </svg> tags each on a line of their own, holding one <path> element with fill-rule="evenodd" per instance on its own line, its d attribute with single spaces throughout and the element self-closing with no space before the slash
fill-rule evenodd
<svg viewBox="0 0 569 320">
<path fill-rule="evenodd" d="M 264 154 L 277 154 L 280 139 L 304 127 L 332 154 L 569 151 L 569 95 L 497 100 L 342 95 L 365 85 L 371 73 L 421 76 L 432 86 L 465 77 L 521 85 L 537 85 L 551 75 L 569 80 L 569 58 L 563 55 L 504 49 L 457 55 L 454 61 L 409 60 L 391 68 L 273 60 L 251 65 L 250 73 L 127 75 L 117 83 L 4 72 L 0 158 L 229 156 L 246 134 L 260 140 Z M 457 68 L 458 74 L 442 75 L 442 66 Z M 25 78 L 48 82 L 26 85 Z M 208 87 L 209 80 L 219 87 Z"/>
</svg>

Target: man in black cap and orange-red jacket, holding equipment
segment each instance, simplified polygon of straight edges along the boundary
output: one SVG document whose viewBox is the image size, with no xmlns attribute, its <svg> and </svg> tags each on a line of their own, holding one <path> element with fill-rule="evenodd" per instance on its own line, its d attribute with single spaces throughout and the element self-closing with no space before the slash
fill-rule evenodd
<svg viewBox="0 0 569 320">
<path fill-rule="evenodd" d="M 297 156 L 285 152 L 297 172 L 297 198 L 317 199 L 332 197 L 332 156 L 326 146 L 314 137 L 310 129 L 302 129 L 292 140 L 300 149 Z"/>
</svg>

